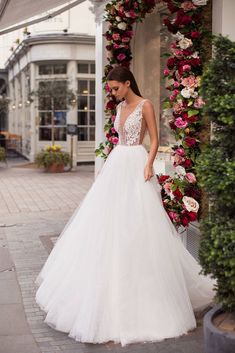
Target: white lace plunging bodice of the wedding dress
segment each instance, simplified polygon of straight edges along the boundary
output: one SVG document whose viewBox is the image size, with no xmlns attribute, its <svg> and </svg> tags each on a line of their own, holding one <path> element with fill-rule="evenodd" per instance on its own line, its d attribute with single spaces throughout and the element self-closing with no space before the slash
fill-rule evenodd
<svg viewBox="0 0 235 353">
<path fill-rule="evenodd" d="M 146 100 L 142 99 L 136 108 L 128 115 L 123 126 L 121 125 L 121 110 L 126 104 L 125 101 L 117 106 L 117 115 L 114 122 L 114 128 L 118 132 L 119 145 L 135 146 L 142 143 L 146 132 L 146 124 L 144 123 L 142 108 Z"/>
</svg>

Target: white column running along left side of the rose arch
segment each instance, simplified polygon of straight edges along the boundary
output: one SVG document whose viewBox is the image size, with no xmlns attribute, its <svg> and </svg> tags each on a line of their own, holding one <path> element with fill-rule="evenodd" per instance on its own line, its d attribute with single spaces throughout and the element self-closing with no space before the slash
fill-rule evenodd
<svg viewBox="0 0 235 353">
<path fill-rule="evenodd" d="M 96 130 L 95 130 L 95 147 L 97 148 L 100 142 L 105 140 L 104 135 L 104 94 L 102 77 L 104 75 L 105 65 L 105 32 L 106 23 L 100 21 L 96 23 Z M 95 158 L 95 177 L 99 173 L 104 164 L 101 157 Z"/>
</svg>

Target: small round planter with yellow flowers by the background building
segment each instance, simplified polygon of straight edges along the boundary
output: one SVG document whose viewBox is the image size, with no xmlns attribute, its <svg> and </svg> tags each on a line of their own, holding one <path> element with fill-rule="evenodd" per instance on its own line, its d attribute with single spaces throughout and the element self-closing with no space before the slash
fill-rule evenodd
<svg viewBox="0 0 235 353">
<path fill-rule="evenodd" d="M 37 165 L 43 166 L 47 172 L 61 173 L 64 167 L 70 163 L 68 152 L 61 150 L 60 145 L 47 146 L 36 155 Z"/>
</svg>

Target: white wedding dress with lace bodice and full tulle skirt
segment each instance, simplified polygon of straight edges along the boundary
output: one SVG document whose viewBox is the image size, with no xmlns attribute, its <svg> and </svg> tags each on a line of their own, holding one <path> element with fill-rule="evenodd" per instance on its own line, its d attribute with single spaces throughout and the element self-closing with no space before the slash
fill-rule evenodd
<svg viewBox="0 0 235 353">
<path fill-rule="evenodd" d="M 45 322 L 80 342 L 160 341 L 196 327 L 214 281 L 186 250 L 163 206 L 148 158 L 142 100 L 115 129 L 112 150 L 41 270 Z"/>
</svg>

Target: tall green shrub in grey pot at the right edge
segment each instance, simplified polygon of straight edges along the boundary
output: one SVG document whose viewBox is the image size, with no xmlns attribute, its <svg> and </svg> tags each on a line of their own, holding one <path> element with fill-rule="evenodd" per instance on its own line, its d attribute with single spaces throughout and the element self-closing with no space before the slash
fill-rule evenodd
<svg viewBox="0 0 235 353">
<path fill-rule="evenodd" d="M 235 43 L 213 39 L 213 58 L 201 85 L 210 141 L 197 161 L 199 183 L 209 199 L 201 228 L 199 259 L 217 280 L 217 305 L 204 317 L 206 353 L 235 352 Z"/>
</svg>

